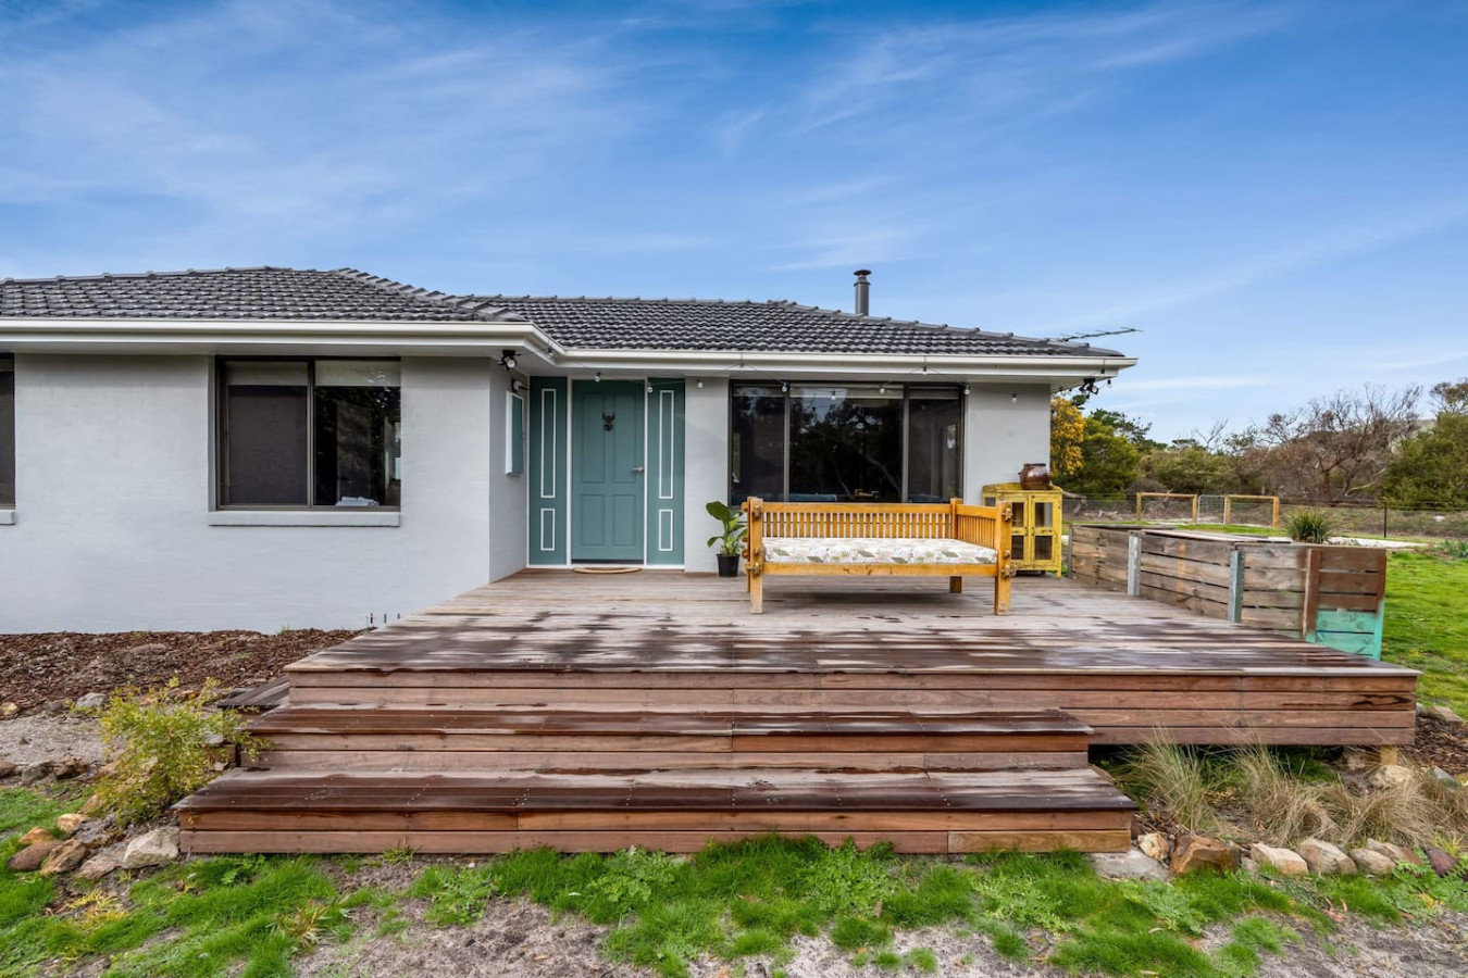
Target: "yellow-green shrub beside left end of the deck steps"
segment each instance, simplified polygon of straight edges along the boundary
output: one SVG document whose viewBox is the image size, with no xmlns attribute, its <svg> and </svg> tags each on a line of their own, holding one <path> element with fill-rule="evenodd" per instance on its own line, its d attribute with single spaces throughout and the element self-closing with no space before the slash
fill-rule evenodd
<svg viewBox="0 0 1468 978">
<path fill-rule="evenodd" d="M 214 780 L 225 745 L 236 743 L 247 757 L 258 757 L 263 742 L 245 733 L 241 717 L 211 705 L 219 695 L 210 680 L 198 695 L 179 696 L 175 679 L 142 695 L 119 691 L 101 708 L 112 773 L 97 786 L 97 796 L 120 824 L 160 815 Z"/>
</svg>

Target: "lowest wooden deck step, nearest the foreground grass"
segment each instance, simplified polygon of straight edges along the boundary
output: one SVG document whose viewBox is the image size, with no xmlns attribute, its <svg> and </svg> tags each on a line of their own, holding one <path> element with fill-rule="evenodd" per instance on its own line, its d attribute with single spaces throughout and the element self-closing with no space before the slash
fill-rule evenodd
<svg viewBox="0 0 1468 978">
<path fill-rule="evenodd" d="M 643 774 L 232 771 L 178 805 L 188 852 L 567 852 L 778 831 L 904 852 L 1120 850 L 1132 802 L 1091 768 Z"/>
</svg>

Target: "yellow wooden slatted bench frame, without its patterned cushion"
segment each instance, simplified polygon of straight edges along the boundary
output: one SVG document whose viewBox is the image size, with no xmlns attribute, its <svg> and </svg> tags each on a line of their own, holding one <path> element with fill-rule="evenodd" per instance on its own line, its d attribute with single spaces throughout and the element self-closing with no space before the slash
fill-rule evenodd
<svg viewBox="0 0 1468 978">
<path fill-rule="evenodd" d="M 963 592 L 963 578 L 994 578 L 994 613 L 1009 614 L 1014 578 L 1013 515 L 1009 503 L 967 506 L 948 503 L 766 503 L 759 497 L 741 507 L 749 525 L 744 582 L 749 610 L 765 610 L 765 575 L 948 578 L 951 594 Z M 957 540 L 988 547 L 994 563 L 782 563 L 765 559 L 766 537 L 918 537 Z"/>
</svg>

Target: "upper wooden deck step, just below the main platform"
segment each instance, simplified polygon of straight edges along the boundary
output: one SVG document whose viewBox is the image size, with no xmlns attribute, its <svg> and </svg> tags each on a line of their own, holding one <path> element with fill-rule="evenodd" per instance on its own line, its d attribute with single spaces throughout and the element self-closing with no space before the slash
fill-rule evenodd
<svg viewBox="0 0 1468 978">
<path fill-rule="evenodd" d="M 709 713 L 301 707 L 251 724 L 254 767 L 649 771 L 1003 770 L 1086 764 L 1091 727 L 1055 710 Z"/>
</svg>

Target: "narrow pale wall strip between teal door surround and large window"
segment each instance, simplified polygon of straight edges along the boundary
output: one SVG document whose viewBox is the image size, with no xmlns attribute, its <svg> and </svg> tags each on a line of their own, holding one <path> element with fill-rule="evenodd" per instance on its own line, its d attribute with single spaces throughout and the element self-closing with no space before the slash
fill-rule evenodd
<svg viewBox="0 0 1468 978">
<path fill-rule="evenodd" d="M 708 510 L 709 500 L 728 501 L 730 493 L 730 383 L 728 380 L 688 378 L 684 384 L 684 547 L 683 566 L 697 573 L 719 569 L 713 550 L 705 541 L 719 532 Z"/>
</svg>

